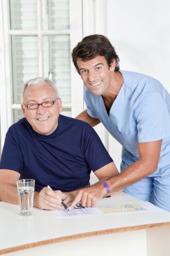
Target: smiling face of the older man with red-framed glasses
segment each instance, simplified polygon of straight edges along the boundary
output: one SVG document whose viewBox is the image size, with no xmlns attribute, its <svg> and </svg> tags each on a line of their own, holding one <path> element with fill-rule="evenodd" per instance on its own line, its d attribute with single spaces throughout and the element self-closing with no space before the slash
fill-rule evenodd
<svg viewBox="0 0 170 256">
<path fill-rule="evenodd" d="M 23 95 L 24 104 L 41 104 L 42 102 L 55 100 L 56 92 L 52 86 L 46 82 L 28 86 Z M 62 102 L 60 98 L 54 102 L 54 105 L 44 107 L 39 105 L 36 109 L 28 109 L 22 104 L 22 112 L 28 123 L 32 125 L 32 129 L 42 135 L 50 135 L 58 126 L 58 116 L 62 110 Z"/>
</svg>

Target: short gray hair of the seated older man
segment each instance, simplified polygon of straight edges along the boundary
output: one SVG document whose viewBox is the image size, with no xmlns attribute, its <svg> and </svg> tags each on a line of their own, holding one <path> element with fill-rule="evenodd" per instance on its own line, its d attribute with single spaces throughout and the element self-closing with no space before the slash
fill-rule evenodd
<svg viewBox="0 0 170 256">
<path fill-rule="evenodd" d="M 41 84 L 41 83 L 49 84 L 49 86 L 54 88 L 54 91 L 56 92 L 56 98 L 59 97 L 58 89 L 56 88 L 56 85 L 50 79 L 44 78 L 44 77 L 35 77 L 35 78 L 32 78 L 32 79 L 28 80 L 24 84 L 24 86 L 22 88 L 22 94 L 21 94 L 22 103 L 23 103 L 23 96 L 24 96 L 24 92 L 26 91 L 26 88 L 28 88 L 29 86 L 34 86 L 36 84 Z"/>
</svg>

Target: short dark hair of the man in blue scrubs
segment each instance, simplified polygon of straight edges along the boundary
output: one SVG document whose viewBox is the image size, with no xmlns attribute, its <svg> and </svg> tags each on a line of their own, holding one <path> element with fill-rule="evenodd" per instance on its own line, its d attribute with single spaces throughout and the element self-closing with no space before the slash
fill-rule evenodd
<svg viewBox="0 0 170 256">
<path fill-rule="evenodd" d="M 119 57 L 116 54 L 114 46 L 112 46 L 110 40 L 101 34 L 92 34 L 91 36 L 85 36 L 81 42 L 78 42 L 77 46 L 72 51 L 73 63 L 79 73 L 79 67 L 77 66 L 77 59 L 83 61 L 91 60 L 97 56 L 105 57 L 105 60 L 110 67 L 112 61 L 116 60 L 115 71 L 119 71 Z"/>
</svg>

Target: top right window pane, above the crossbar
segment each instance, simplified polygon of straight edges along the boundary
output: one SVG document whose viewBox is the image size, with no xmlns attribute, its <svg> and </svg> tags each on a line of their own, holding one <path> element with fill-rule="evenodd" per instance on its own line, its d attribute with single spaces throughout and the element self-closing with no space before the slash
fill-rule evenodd
<svg viewBox="0 0 170 256">
<path fill-rule="evenodd" d="M 69 29 L 69 0 L 42 0 L 42 17 L 44 30 Z"/>
</svg>

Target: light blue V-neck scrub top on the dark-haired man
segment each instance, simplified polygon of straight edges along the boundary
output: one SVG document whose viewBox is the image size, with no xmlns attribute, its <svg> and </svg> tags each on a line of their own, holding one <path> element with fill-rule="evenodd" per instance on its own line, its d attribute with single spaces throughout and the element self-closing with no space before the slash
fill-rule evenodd
<svg viewBox="0 0 170 256">
<path fill-rule="evenodd" d="M 122 144 L 122 161 L 138 160 L 138 143 L 163 139 L 159 168 L 170 159 L 170 95 L 155 78 L 120 71 L 124 84 L 108 115 L 103 98 L 84 86 L 87 112 L 101 120 L 110 134 Z"/>
</svg>

